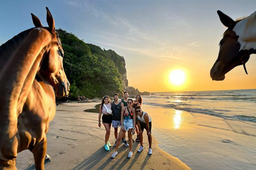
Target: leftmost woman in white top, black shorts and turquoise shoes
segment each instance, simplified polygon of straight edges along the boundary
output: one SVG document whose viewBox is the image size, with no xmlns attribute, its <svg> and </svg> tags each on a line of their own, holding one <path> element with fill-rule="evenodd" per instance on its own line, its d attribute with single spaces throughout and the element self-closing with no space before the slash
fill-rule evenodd
<svg viewBox="0 0 256 170">
<path fill-rule="evenodd" d="M 109 151 L 109 148 L 111 147 L 111 144 L 108 141 L 110 136 L 111 123 L 112 123 L 112 115 L 109 112 L 109 109 L 111 110 L 110 98 L 108 96 L 105 96 L 103 97 L 101 101 L 101 105 L 99 107 L 99 127 L 101 128 L 100 118 L 102 114 L 102 123 L 106 129 L 105 145 L 104 145 L 104 148 L 106 151 Z"/>
</svg>

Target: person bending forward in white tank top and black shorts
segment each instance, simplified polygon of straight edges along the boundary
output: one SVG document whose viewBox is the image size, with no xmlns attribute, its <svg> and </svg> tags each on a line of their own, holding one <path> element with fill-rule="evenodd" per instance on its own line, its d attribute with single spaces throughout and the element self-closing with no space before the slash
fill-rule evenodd
<svg viewBox="0 0 256 170">
<path fill-rule="evenodd" d="M 140 148 L 138 149 L 138 152 L 141 152 L 144 149 L 142 133 L 143 133 L 144 129 L 146 129 L 147 135 L 148 135 L 148 143 L 149 143 L 148 154 L 151 155 L 152 154 L 151 117 L 146 112 L 142 112 L 140 106 L 135 107 L 135 113 L 138 116 L 137 118 L 139 120 L 137 123 L 138 128 L 139 128 L 139 135 L 140 135 Z"/>
</svg>

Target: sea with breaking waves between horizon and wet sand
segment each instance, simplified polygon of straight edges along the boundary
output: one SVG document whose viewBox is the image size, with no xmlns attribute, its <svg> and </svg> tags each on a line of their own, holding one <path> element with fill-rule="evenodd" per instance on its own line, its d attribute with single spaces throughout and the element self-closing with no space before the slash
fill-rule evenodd
<svg viewBox="0 0 256 170">
<path fill-rule="evenodd" d="M 146 105 L 256 123 L 256 89 L 154 92 L 142 99 Z"/>
</svg>

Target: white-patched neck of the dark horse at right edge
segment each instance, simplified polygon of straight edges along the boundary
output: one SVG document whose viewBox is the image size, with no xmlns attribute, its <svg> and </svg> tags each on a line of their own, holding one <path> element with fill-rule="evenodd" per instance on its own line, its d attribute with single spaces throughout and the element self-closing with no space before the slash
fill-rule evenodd
<svg viewBox="0 0 256 170">
<path fill-rule="evenodd" d="M 240 50 L 256 50 L 256 12 L 238 21 L 233 30 L 238 36 Z"/>
</svg>

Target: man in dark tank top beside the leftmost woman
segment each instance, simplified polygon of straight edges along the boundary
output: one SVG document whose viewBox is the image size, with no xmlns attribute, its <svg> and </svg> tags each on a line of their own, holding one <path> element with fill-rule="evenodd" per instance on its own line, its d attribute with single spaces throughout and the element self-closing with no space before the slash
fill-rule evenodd
<svg viewBox="0 0 256 170">
<path fill-rule="evenodd" d="M 111 104 L 111 110 L 112 110 L 112 127 L 115 129 L 115 139 L 117 141 L 117 131 L 118 126 L 121 126 L 121 111 L 124 107 L 124 104 L 118 100 L 119 95 L 115 94 L 113 96 L 114 102 Z M 116 146 L 116 142 L 114 144 L 114 147 Z"/>
</svg>

